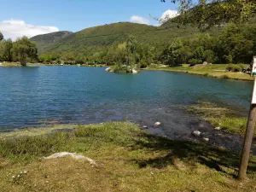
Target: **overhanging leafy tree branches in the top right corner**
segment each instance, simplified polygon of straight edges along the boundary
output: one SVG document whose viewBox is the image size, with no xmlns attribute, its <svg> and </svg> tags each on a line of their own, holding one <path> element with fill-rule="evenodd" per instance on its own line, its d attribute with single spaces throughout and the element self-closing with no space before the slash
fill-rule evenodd
<svg viewBox="0 0 256 192">
<path fill-rule="evenodd" d="M 166 2 L 167 0 L 160 0 Z M 171 0 L 178 3 L 179 16 L 175 21 L 195 23 L 201 28 L 221 25 L 228 21 L 241 23 L 253 20 L 256 14 L 255 0 Z"/>
</svg>

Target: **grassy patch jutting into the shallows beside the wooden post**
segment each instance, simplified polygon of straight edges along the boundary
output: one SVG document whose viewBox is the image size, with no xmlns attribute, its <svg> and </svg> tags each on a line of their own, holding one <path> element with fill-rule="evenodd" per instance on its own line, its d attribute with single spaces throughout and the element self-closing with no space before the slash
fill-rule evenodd
<svg viewBox="0 0 256 192">
<path fill-rule="evenodd" d="M 201 119 L 206 120 L 214 127 L 223 131 L 244 135 L 247 128 L 247 118 L 241 117 L 234 110 L 219 107 L 209 102 L 199 102 L 191 105 L 187 110 L 196 113 Z M 256 137 L 256 131 L 254 131 Z"/>
</svg>

